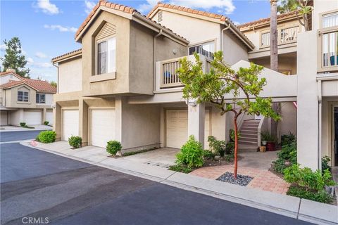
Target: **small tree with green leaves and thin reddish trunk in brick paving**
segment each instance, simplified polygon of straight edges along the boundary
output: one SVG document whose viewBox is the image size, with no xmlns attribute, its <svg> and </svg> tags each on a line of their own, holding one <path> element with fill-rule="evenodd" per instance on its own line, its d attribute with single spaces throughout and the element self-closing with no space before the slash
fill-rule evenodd
<svg viewBox="0 0 338 225">
<path fill-rule="evenodd" d="M 280 120 L 280 116 L 271 107 L 272 99 L 259 96 L 266 85 L 265 78 L 258 78 L 263 67 L 251 63 L 249 68 L 232 70 L 224 62 L 223 52 L 218 51 L 211 63 L 211 71 L 205 73 L 203 63 L 196 53 L 195 58 L 195 63 L 187 58 L 180 60 L 181 67 L 177 72 L 184 84 L 183 98 L 194 99 L 196 103 L 212 103 L 220 109 L 221 115 L 234 113 L 234 178 L 237 179 L 239 115 L 263 115 Z"/>
</svg>

